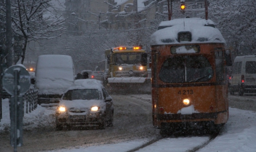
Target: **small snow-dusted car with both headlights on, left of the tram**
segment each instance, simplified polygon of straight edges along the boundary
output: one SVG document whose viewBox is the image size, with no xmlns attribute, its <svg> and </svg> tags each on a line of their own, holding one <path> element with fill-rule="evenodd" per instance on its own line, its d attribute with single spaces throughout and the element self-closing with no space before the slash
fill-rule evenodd
<svg viewBox="0 0 256 152">
<path fill-rule="evenodd" d="M 95 79 L 77 79 L 63 94 L 56 108 L 56 130 L 74 125 L 113 125 L 113 99 L 101 82 Z"/>
</svg>

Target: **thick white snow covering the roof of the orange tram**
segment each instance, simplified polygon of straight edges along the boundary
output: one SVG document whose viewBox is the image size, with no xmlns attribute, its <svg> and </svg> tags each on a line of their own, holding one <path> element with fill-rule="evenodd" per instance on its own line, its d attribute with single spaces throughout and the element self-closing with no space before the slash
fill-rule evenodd
<svg viewBox="0 0 256 152">
<path fill-rule="evenodd" d="M 178 33 L 189 31 L 191 41 L 178 42 Z M 226 43 L 219 29 L 212 20 L 201 18 L 184 18 L 163 21 L 158 30 L 151 35 L 150 45 L 181 44 L 181 43 Z"/>
</svg>

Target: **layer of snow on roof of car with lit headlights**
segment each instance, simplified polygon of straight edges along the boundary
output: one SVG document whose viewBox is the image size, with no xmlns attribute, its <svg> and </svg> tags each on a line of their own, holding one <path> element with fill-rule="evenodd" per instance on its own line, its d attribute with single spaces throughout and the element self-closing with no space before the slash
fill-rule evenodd
<svg viewBox="0 0 256 152">
<path fill-rule="evenodd" d="M 76 79 L 68 90 L 74 89 L 98 89 L 101 90 L 101 81 L 97 79 Z"/>
</svg>

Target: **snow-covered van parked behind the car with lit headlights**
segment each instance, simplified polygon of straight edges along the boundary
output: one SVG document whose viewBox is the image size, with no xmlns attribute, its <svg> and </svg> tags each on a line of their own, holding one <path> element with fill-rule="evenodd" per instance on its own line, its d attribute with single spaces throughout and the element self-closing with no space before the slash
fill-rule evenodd
<svg viewBox="0 0 256 152">
<path fill-rule="evenodd" d="M 73 60 L 69 55 L 40 55 L 36 63 L 35 87 L 38 104 L 59 103 L 75 80 Z"/>
</svg>

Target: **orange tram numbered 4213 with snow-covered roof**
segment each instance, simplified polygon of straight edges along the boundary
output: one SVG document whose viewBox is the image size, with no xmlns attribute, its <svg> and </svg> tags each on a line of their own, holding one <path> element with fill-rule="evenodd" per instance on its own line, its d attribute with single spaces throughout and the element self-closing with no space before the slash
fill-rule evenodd
<svg viewBox="0 0 256 152">
<path fill-rule="evenodd" d="M 228 121 L 230 51 L 214 22 L 163 21 L 151 36 L 153 125 L 161 134 L 190 129 L 218 133 Z"/>
</svg>

